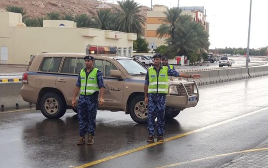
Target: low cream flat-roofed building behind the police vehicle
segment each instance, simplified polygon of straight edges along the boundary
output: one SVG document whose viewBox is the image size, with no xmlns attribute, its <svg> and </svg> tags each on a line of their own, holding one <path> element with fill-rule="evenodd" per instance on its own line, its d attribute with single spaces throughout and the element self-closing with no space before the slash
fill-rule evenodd
<svg viewBox="0 0 268 168">
<path fill-rule="evenodd" d="M 22 15 L 0 12 L 0 64 L 28 64 L 38 53 L 85 53 L 85 46 L 111 45 L 118 55 L 132 56 L 135 33 L 77 28 L 66 20 L 44 20 L 43 27 L 26 27 Z"/>
</svg>

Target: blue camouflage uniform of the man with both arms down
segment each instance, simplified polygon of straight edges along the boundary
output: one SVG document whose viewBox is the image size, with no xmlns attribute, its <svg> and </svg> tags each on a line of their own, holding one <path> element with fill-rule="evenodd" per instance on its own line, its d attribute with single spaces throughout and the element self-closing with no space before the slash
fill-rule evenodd
<svg viewBox="0 0 268 168">
<path fill-rule="evenodd" d="M 86 72 L 86 78 L 88 78 L 90 72 L 87 72 L 86 68 L 85 72 Z M 102 73 L 99 70 L 97 71 L 97 81 L 99 89 L 105 88 Z M 80 74 L 78 75 L 76 86 L 78 87 L 81 86 Z M 77 114 L 79 122 L 79 135 L 81 137 L 85 136 L 87 132 L 89 132 L 93 136 L 95 135 L 96 115 L 99 105 L 98 94 L 99 92 L 97 91 L 94 92 L 92 95 L 79 96 Z"/>
</svg>

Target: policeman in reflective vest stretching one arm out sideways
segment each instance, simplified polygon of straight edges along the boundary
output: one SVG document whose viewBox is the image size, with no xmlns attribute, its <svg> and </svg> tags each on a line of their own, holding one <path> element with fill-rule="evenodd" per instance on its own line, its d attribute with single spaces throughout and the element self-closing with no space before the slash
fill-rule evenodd
<svg viewBox="0 0 268 168">
<path fill-rule="evenodd" d="M 147 142 L 154 141 L 155 119 L 157 117 L 157 141 L 164 141 L 166 94 L 168 93 L 168 76 L 199 78 L 200 74 L 188 75 L 179 73 L 167 66 L 161 65 L 161 54 L 155 54 L 152 59 L 154 66 L 148 68 L 144 83 L 144 101 L 148 104 Z"/>
</svg>

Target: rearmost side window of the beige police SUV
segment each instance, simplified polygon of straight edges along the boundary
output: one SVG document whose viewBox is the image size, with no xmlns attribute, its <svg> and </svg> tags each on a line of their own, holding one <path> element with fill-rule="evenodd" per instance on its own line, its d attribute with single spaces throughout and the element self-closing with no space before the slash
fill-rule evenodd
<svg viewBox="0 0 268 168">
<path fill-rule="evenodd" d="M 62 57 L 44 57 L 40 65 L 39 71 L 42 72 L 58 72 Z"/>
</svg>

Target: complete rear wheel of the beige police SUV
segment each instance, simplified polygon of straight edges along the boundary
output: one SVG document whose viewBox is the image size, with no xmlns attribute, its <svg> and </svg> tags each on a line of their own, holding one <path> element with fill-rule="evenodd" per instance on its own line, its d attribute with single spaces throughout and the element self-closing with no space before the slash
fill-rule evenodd
<svg viewBox="0 0 268 168">
<path fill-rule="evenodd" d="M 40 99 L 40 108 L 46 118 L 58 119 L 66 112 L 66 105 L 57 93 L 45 93 Z"/>
</svg>

